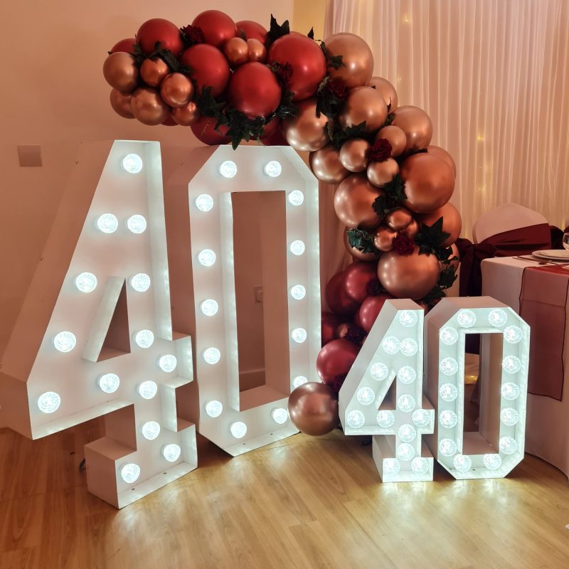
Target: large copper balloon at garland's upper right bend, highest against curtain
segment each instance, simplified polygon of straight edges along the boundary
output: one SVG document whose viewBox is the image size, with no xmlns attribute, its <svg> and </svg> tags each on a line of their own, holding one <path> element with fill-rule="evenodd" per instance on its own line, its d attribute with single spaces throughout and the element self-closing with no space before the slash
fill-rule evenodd
<svg viewBox="0 0 569 569">
<path fill-rule="evenodd" d="M 362 38 L 353 33 L 334 33 L 324 43 L 329 58 L 341 55 L 345 65 L 338 69 L 329 68 L 331 79 L 344 81 L 348 87 L 369 83 L 373 73 L 373 54 Z"/>
</svg>

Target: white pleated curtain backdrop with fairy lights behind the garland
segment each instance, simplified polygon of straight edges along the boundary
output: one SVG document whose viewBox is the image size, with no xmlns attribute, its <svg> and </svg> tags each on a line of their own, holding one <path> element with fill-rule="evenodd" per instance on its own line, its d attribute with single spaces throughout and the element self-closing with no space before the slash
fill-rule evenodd
<svg viewBox="0 0 569 569">
<path fill-rule="evenodd" d="M 569 225 L 569 0 L 329 0 L 324 29 L 365 39 L 399 104 L 429 113 L 463 236 L 507 202 Z"/>
</svg>

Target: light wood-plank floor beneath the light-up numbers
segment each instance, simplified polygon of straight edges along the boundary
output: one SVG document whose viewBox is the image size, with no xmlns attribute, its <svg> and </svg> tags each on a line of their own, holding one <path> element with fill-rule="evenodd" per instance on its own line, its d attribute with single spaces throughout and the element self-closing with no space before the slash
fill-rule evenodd
<svg viewBox="0 0 569 569">
<path fill-rule="evenodd" d="M 200 467 L 117 511 L 78 467 L 98 420 L 31 442 L 0 430 L 0 567 L 569 568 L 569 487 L 526 456 L 507 479 L 381 484 L 336 431 Z"/>
</svg>

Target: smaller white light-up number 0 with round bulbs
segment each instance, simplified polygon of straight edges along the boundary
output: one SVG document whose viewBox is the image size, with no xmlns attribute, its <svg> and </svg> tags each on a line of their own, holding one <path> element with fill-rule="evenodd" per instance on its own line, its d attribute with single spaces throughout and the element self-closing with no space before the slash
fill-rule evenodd
<svg viewBox="0 0 569 569">
<path fill-rule="evenodd" d="M 427 444 L 457 479 L 501 478 L 523 459 L 529 326 L 490 297 L 443 299 L 427 315 L 425 393 L 437 410 Z M 482 334 L 479 430 L 464 430 L 464 342 Z"/>
</svg>

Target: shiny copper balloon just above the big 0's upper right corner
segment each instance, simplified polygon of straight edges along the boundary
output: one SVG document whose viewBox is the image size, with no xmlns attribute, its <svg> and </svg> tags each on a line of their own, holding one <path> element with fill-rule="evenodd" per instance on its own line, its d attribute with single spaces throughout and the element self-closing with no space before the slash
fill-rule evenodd
<svg viewBox="0 0 569 569">
<path fill-rule="evenodd" d="M 316 116 L 316 97 L 297 103 L 298 115 L 282 122 L 282 133 L 294 150 L 314 151 L 329 142 L 326 132 L 328 117 Z"/>
</svg>

